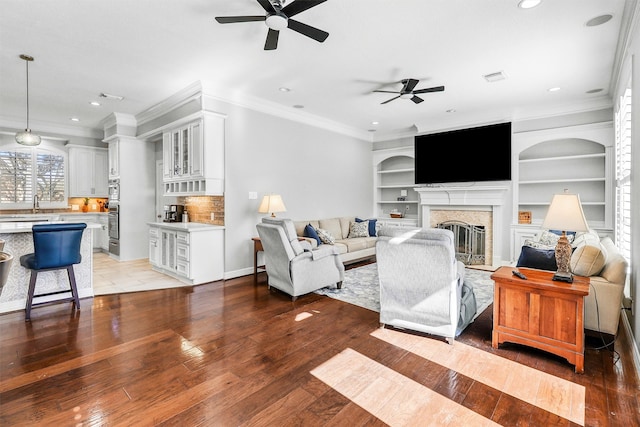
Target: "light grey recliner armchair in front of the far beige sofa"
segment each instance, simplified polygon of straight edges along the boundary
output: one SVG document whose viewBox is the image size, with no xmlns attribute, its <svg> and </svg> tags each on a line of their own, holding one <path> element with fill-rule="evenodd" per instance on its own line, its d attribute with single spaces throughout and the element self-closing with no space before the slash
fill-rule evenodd
<svg viewBox="0 0 640 427">
<path fill-rule="evenodd" d="M 294 301 L 326 286 L 342 287 L 344 265 L 333 246 L 311 249 L 309 242 L 298 240 L 290 219 L 263 218 L 256 228 L 264 248 L 269 287 L 291 295 Z"/>
</svg>

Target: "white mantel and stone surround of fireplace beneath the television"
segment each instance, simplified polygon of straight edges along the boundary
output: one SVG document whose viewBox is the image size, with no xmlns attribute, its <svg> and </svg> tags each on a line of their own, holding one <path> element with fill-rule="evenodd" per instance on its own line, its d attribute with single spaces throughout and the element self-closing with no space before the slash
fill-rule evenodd
<svg viewBox="0 0 640 427">
<path fill-rule="evenodd" d="M 503 218 L 508 190 L 506 185 L 417 187 L 415 191 L 420 196 L 420 226 L 434 227 L 435 223 L 444 220 L 482 225 L 487 230 L 487 264 L 502 265 Z M 450 215 L 442 211 L 450 211 Z"/>
</svg>

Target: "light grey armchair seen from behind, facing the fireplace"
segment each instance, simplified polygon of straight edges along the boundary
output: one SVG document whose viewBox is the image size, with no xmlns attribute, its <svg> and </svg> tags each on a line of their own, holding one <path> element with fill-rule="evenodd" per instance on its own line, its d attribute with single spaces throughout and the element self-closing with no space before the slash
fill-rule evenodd
<svg viewBox="0 0 640 427">
<path fill-rule="evenodd" d="M 453 344 L 464 282 L 453 233 L 385 227 L 378 232 L 376 258 L 383 327 L 438 335 Z"/>
</svg>

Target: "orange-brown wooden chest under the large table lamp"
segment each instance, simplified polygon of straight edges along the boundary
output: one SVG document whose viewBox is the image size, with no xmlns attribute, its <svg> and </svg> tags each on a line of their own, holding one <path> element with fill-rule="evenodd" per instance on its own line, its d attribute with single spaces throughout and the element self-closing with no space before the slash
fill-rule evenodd
<svg viewBox="0 0 640 427">
<path fill-rule="evenodd" d="M 584 373 L 584 297 L 589 278 L 574 276 L 573 283 L 551 280 L 553 272 L 519 268 L 527 280 L 500 267 L 491 275 L 493 348 L 513 342 L 548 351 Z"/>
</svg>

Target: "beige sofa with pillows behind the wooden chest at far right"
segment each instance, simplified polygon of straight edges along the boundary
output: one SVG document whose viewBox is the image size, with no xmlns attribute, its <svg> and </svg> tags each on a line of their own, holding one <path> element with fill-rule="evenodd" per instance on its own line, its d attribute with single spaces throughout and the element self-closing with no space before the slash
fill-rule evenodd
<svg viewBox="0 0 640 427">
<path fill-rule="evenodd" d="M 525 246 L 553 251 L 555 242 L 548 240 L 549 236 L 549 232 L 542 231 L 533 241 L 525 241 Z M 600 238 L 593 230 L 576 233 L 571 244 L 574 248 L 570 262 L 571 272 L 591 279 L 589 295 L 584 300 L 584 328 L 592 332 L 616 335 L 627 280 L 627 261 L 611 238 Z M 518 263 L 520 262 L 519 260 Z"/>
</svg>

